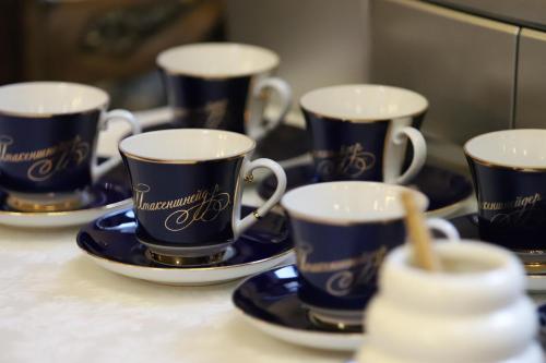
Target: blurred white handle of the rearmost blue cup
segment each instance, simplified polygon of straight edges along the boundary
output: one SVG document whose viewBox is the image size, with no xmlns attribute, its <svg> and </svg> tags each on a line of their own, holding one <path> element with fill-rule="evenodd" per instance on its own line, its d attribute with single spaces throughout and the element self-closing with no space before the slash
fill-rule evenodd
<svg viewBox="0 0 546 363">
<path fill-rule="evenodd" d="M 272 120 L 264 122 L 268 88 L 276 90 L 281 97 L 281 113 Z M 265 77 L 259 80 L 252 88 L 252 101 L 250 106 L 250 120 L 247 133 L 256 141 L 262 140 L 271 130 L 278 126 L 284 120 L 292 106 L 292 88 L 286 81 L 278 77 Z"/>
</svg>

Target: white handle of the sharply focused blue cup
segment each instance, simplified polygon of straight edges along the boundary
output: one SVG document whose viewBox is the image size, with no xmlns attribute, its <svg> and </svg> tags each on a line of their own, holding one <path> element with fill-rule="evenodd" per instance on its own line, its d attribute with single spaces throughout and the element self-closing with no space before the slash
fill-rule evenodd
<svg viewBox="0 0 546 363">
<path fill-rule="evenodd" d="M 271 210 L 271 208 L 273 208 L 275 204 L 281 201 L 281 197 L 286 190 L 286 174 L 283 168 L 277 162 L 265 158 L 256 159 L 253 161 L 245 159 L 245 165 L 241 168 L 240 182 L 242 182 L 242 180 L 251 181 L 253 179 L 252 170 L 258 168 L 266 168 L 273 171 L 276 178 L 276 190 L 268 201 L 265 201 L 260 207 L 258 207 L 254 211 L 244 217 L 242 219 L 238 215 L 241 209 L 241 197 L 238 198 L 235 205 L 235 210 L 237 210 L 238 214 L 234 221 L 234 234 L 236 238 L 245 232 L 250 226 L 256 223 L 260 218 L 265 216 Z"/>
</svg>

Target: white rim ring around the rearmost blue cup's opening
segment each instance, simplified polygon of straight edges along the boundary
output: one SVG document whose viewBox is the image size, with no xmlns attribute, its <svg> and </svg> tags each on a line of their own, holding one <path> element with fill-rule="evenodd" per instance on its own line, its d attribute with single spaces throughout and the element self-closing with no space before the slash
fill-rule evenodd
<svg viewBox="0 0 546 363">
<path fill-rule="evenodd" d="M 193 71 L 189 69 L 183 69 L 178 66 L 173 66 L 171 60 L 169 57 L 175 57 L 175 55 L 179 55 L 182 52 L 190 52 L 194 51 L 197 49 L 213 49 L 213 48 L 223 48 L 223 50 L 229 50 L 229 49 L 246 49 L 250 50 L 257 53 L 262 53 L 266 57 L 270 57 L 269 63 L 261 65 L 261 66 L 254 66 L 253 69 L 249 71 L 239 71 L 239 72 L 232 72 L 232 73 L 216 73 L 216 72 L 199 72 L 199 71 Z M 194 44 L 189 44 L 189 45 L 183 45 L 183 46 L 178 46 L 178 47 L 173 47 L 163 50 L 159 52 L 155 59 L 155 62 L 159 69 L 162 69 L 165 73 L 170 74 L 170 75 L 186 75 L 186 76 L 192 76 L 192 77 L 199 77 L 199 78 L 207 78 L 207 80 L 226 80 L 226 78 L 236 78 L 236 77 L 244 77 L 244 76 L 250 76 L 254 74 L 260 74 L 260 73 L 265 73 L 269 71 L 272 71 L 278 66 L 280 63 L 280 57 L 276 52 L 273 50 L 270 50 L 268 48 L 254 46 L 254 45 L 249 45 L 249 44 L 242 44 L 242 43 L 221 43 L 221 41 L 207 41 L 207 43 L 194 43 Z"/>
</svg>

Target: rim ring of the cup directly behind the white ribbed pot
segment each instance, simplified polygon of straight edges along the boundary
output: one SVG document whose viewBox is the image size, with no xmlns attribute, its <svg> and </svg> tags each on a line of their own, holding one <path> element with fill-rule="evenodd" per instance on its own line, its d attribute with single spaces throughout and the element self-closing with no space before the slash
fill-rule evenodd
<svg viewBox="0 0 546 363">
<path fill-rule="evenodd" d="M 281 205 L 282 207 L 288 213 L 290 217 L 295 217 L 299 220 L 307 221 L 307 222 L 312 222 L 312 223 L 320 223 L 320 225 L 329 225 L 329 226 L 357 226 L 357 225 L 366 225 L 366 223 L 377 223 L 377 222 L 391 222 L 391 221 L 397 221 L 402 220 L 405 217 L 405 214 L 402 211 L 400 216 L 390 216 L 390 217 L 382 217 L 382 218 L 369 218 L 366 215 L 359 216 L 357 218 L 329 218 L 324 216 L 317 216 L 312 215 L 309 211 L 301 211 L 300 208 L 294 208 L 293 206 L 289 205 L 288 199 L 297 193 L 300 193 L 304 190 L 309 190 L 309 189 L 324 189 L 329 187 L 332 185 L 367 185 L 369 187 L 371 186 L 381 186 L 384 189 L 396 189 L 400 192 L 402 191 L 411 191 L 414 195 L 417 196 L 417 204 L 418 207 L 420 207 L 422 211 L 425 211 L 428 207 L 429 201 L 428 197 L 416 190 L 413 190 L 407 186 L 403 185 L 396 185 L 396 184 L 388 184 L 388 183 L 382 183 L 382 182 L 371 182 L 371 181 L 333 181 L 333 182 L 323 182 L 323 183 L 313 183 L 313 184 L 307 184 L 302 186 L 298 186 L 293 189 L 292 191 L 288 191 L 284 194 L 283 198 L 281 199 Z"/>
</svg>

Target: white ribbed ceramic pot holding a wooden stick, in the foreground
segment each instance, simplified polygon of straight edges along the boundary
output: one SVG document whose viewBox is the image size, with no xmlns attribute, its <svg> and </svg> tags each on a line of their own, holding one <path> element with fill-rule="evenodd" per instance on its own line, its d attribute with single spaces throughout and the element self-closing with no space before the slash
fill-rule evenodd
<svg viewBox="0 0 546 363">
<path fill-rule="evenodd" d="M 446 271 L 387 257 L 366 313 L 359 363 L 544 363 L 523 266 L 509 251 L 474 241 L 435 244 Z"/>
</svg>

